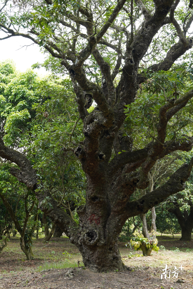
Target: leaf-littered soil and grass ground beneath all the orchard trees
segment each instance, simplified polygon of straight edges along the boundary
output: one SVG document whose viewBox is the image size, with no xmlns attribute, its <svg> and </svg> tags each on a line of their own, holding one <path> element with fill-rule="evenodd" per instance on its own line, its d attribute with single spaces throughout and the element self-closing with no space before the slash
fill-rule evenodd
<svg viewBox="0 0 193 289">
<path fill-rule="evenodd" d="M 52 238 L 49 244 L 43 244 L 41 239 L 34 240 L 35 259 L 26 261 L 18 236 L 12 237 L 0 255 L 0 288 L 193 289 L 193 241 L 182 242 L 179 238 L 179 235 L 174 239 L 168 235 L 158 236 L 159 246 L 166 250 L 153 252 L 149 257 L 134 256 L 136 252 L 125 247 L 125 243 L 119 243 L 123 262 L 129 271 L 93 273 L 83 267 L 78 249 L 68 238 Z M 137 253 L 141 254 L 140 251 Z M 130 255 L 132 258 L 128 257 Z M 166 264 L 171 272 L 174 266 L 177 267 L 178 278 L 172 278 L 174 273 L 171 273 L 170 279 L 160 279 Z M 182 271 L 179 269 L 181 265 Z M 73 279 L 65 276 L 69 268 L 73 270 Z"/>
</svg>

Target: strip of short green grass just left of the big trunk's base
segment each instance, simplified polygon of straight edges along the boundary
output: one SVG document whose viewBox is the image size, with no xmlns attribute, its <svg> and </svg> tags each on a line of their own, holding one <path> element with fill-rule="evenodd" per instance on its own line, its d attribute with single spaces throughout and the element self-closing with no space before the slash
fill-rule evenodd
<svg viewBox="0 0 193 289">
<path fill-rule="evenodd" d="M 84 266 L 82 262 L 79 263 L 79 266 Z M 78 263 L 72 260 L 65 259 L 64 262 L 45 262 L 43 266 L 39 266 L 36 271 L 40 272 L 42 270 L 48 270 L 48 269 L 65 269 L 65 268 L 71 268 L 71 267 L 78 267 Z"/>
</svg>

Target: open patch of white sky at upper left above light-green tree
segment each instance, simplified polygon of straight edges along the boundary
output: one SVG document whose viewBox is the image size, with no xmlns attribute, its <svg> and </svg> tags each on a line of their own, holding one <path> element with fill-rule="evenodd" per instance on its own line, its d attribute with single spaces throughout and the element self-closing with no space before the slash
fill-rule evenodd
<svg viewBox="0 0 193 289">
<path fill-rule="evenodd" d="M 5 37 L 5 34 L 0 33 L 0 37 Z M 0 61 L 6 59 L 12 59 L 16 64 L 16 69 L 21 72 L 31 68 L 31 65 L 44 61 L 44 54 L 40 52 L 38 45 L 34 44 L 28 47 L 24 45 L 30 45 L 33 43 L 30 39 L 23 38 L 22 36 L 10 37 L 0 41 Z M 21 49 L 19 49 L 21 48 Z M 19 49 L 19 50 L 18 50 Z M 38 74 L 48 74 L 44 68 L 35 69 Z"/>
</svg>

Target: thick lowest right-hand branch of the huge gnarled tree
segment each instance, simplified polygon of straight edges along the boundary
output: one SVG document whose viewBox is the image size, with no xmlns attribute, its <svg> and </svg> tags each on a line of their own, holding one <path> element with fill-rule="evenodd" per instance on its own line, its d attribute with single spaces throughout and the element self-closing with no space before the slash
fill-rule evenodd
<svg viewBox="0 0 193 289">
<path fill-rule="evenodd" d="M 149 209 L 160 204 L 170 195 L 183 191 L 185 189 L 185 182 L 190 176 L 192 167 L 193 158 L 189 164 L 184 164 L 173 173 L 169 181 L 164 185 L 135 201 L 127 201 L 128 196 L 134 192 L 134 187 L 131 183 L 128 183 L 128 186 L 126 186 L 128 189 L 126 187 L 122 187 L 121 189 L 121 186 L 117 186 L 117 197 L 112 203 L 111 214 L 106 224 L 107 232 L 111 233 L 111 235 L 117 236 L 129 217 L 137 216 L 141 213 L 147 213 Z M 133 185 L 136 183 L 135 175 L 137 174 L 138 172 L 133 173 Z M 120 179 L 118 181 L 120 181 Z M 117 226 L 117 222 L 113 221 L 115 216 L 119 226 Z"/>
</svg>

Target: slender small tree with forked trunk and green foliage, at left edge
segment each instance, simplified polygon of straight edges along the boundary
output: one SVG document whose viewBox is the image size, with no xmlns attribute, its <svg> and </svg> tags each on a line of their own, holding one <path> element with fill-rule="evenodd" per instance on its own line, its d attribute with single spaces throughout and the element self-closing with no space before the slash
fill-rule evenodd
<svg viewBox="0 0 193 289">
<path fill-rule="evenodd" d="M 34 222 L 34 218 L 31 218 L 31 213 L 33 214 L 32 211 L 37 200 L 33 192 L 10 175 L 5 167 L 0 170 L 0 179 L 0 198 L 8 211 L 12 224 L 10 224 L 8 235 L 15 226 L 20 234 L 21 250 L 27 260 L 31 260 L 33 259 L 32 237 L 38 223 L 37 220 Z"/>
</svg>

